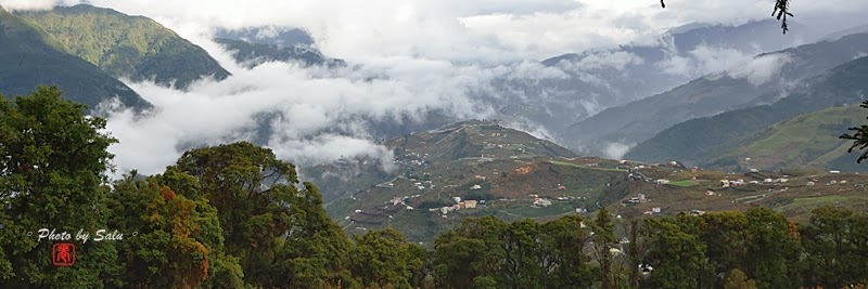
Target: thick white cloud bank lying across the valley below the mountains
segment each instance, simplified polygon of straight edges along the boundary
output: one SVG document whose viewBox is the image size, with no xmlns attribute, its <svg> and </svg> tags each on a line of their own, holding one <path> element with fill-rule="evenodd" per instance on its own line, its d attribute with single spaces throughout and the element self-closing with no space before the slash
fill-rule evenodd
<svg viewBox="0 0 868 289">
<path fill-rule="evenodd" d="M 107 130 L 120 141 L 110 148 L 119 173 L 159 172 L 191 145 L 261 141 L 257 129 L 264 121 L 271 130 L 264 140 L 282 159 L 319 163 L 367 156 L 387 169 L 392 155 L 372 140 L 367 121 L 423 121 L 432 110 L 459 119 L 490 118 L 493 108 L 472 93 L 487 91 L 497 97 L 490 93 L 495 79 L 563 76 L 535 63 L 484 67 L 408 57 L 375 58 L 342 69 L 286 63 L 245 69 L 228 61 L 226 51 L 212 52 L 226 61 L 231 77 L 196 82 L 188 92 L 128 82 L 156 109 L 145 116 L 110 113 Z"/>
</svg>

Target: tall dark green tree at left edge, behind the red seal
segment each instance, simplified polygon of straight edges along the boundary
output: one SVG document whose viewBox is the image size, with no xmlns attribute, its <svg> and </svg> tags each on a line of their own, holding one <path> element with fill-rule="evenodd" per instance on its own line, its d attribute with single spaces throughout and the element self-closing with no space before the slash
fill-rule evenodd
<svg viewBox="0 0 868 289">
<path fill-rule="evenodd" d="M 77 244 L 75 266 L 51 264 L 52 241 L 39 228 L 75 235 L 105 228 L 104 186 L 115 142 L 105 120 L 40 87 L 13 102 L 0 96 L 0 287 L 103 288 L 120 286 L 111 241 Z"/>
</svg>

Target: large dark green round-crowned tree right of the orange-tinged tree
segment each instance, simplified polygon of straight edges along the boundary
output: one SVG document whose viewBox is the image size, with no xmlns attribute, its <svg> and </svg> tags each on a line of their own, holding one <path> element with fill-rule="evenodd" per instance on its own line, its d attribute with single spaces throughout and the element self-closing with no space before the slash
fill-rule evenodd
<svg viewBox="0 0 868 289">
<path fill-rule="evenodd" d="M 167 169 L 176 170 L 195 178 L 217 208 L 226 251 L 241 259 L 246 283 L 297 288 L 348 281 L 349 240 L 326 214 L 316 186 L 299 184 L 295 167 L 270 149 L 248 142 L 192 149 Z"/>
</svg>

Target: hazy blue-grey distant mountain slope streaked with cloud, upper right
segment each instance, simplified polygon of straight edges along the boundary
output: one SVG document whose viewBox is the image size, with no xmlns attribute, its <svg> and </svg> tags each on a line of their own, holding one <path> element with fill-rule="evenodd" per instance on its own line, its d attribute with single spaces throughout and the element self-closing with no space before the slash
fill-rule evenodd
<svg viewBox="0 0 868 289">
<path fill-rule="evenodd" d="M 541 62 L 560 70 L 551 77 L 507 77 L 492 102 L 503 119 L 527 119 L 550 132 L 562 132 L 605 108 L 665 92 L 711 73 L 707 58 L 755 55 L 812 41 L 797 24 L 781 35 L 775 21 L 738 26 L 690 25 L 654 41 L 607 50 L 569 53 Z"/>
</svg>

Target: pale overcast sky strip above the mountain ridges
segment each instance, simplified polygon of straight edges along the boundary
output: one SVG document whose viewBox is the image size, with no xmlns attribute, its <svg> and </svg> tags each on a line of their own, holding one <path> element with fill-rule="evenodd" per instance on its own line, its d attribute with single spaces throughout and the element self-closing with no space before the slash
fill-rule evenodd
<svg viewBox="0 0 868 289">
<path fill-rule="evenodd" d="M 0 0 L 44 6 L 53 0 Z M 66 4 L 77 0 L 62 0 Z M 90 0 L 153 17 L 195 38 L 203 26 L 288 25 L 314 34 L 347 60 L 421 56 L 451 61 L 542 60 L 653 37 L 691 22 L 768 18 L 774 0 Z M 815 28 L 868 23 L 868 0 L 793 0 L 795 21 Z M 863 23 L 860 23 L 863 22 Z"/>
</svg>

